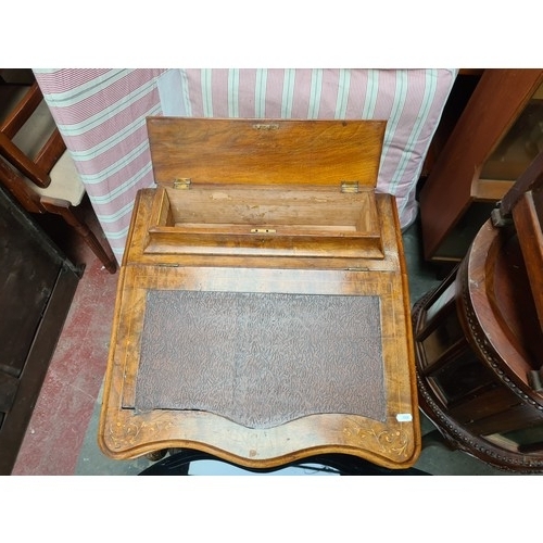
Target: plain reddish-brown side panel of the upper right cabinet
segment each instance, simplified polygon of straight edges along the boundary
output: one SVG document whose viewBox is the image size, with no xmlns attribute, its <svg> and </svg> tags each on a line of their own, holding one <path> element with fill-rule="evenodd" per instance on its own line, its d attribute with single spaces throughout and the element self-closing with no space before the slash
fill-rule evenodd
<svg viewBox="0 0 543 543">
<path fill-rule="evenodd" d="M 482 164 L 542 80 L 541 70 L 484 71 L 420 191 L 427 260 L 433 257 L 470 205 L 478 190 L 473 189 L 473 181 Z M 502 195 L 508 188 L 504 184 Z"/>
</svg>

